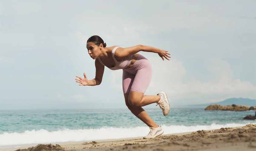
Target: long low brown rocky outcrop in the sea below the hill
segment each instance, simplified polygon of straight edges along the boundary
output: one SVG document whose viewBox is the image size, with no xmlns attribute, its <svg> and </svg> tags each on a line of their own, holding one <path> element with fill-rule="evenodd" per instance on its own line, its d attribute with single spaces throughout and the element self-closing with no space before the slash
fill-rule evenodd
<svg viewBox="0 0 256 151">
<path fill-rule="evenodd" d="M 221 110 L 221 111 L 248 111 L 248 110 L 255 110 L 256 107 L 249 107 L 249 106 L 244 106 L 244 105 L 218 105 L 218 104 L 213 104 L 209 105 L 206 107 L 204 110 Z"/>
</svg>

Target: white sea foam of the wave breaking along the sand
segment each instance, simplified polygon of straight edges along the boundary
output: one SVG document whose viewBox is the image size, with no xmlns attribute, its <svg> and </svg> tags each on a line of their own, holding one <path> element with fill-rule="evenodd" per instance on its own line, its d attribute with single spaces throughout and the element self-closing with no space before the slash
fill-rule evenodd
<svg viewBox="0 0 256 151">
<path fill-rule="evenodd" d="M 256 123 L 246 123 L 256 124 Z M 239 127 L 245 124 L 211 124 L 211 125 L 197 125 L 197 126 L 183 126 L 183 125 L 162 125 L 164 134 L 191 132 L 197 130 L 211 130 L 219 129 L 221 127 Z M 0 146 L 7 145 L 22 145 L 22 144 L 37 144 L 37 143 L 55 143 L 68 141 L 90 141 L 90 140 L 104 140 L 117 139 L 127 137 L 143 137 L 149 132 L 148 127 L 132 127 L 132 128 L 115 128 L 106 127 L 99 129 L 81 129 L 69 130 L 63 129 L 58 131 L 47 130 L 31 130 L 24 133 L 1 133 Z"/>
</svg>

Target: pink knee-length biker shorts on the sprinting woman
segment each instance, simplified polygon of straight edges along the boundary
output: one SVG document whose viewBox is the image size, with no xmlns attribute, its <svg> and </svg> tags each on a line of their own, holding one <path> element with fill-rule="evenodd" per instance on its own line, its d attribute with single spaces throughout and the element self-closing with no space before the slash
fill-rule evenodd
<svg viewBox="0 0 256 151">
<path fill-rule="evenodd" d="M 123 69 L 123 92 L 130 91 L 142 92 L 148 88 L 152 77 L 151 63 L 141 54 L 138 54 L 134 65 Z"/>
</svg>

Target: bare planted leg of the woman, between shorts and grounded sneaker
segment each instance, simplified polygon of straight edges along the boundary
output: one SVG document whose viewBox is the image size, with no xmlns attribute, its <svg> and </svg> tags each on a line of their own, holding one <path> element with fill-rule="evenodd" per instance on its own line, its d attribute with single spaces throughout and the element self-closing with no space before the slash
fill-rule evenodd
<svg viewBox="0 0 256 151">
<path fill-rule="evenodd" d="M 158 127 L 158 125 L 148 116 L 147 112 L 143 108 L 138 106 L 131 106 L 129 104 L 128 96 L 129 92 L 124 94 L 125 104 L 128 107 L 128 109 L 149 127 Z"/>
</svg>

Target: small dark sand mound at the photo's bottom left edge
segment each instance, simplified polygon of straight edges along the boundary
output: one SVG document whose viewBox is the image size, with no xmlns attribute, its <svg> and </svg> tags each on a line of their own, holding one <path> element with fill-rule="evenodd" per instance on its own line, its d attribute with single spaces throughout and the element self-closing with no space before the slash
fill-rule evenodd
<svg viewBox="0 0 256 151">
<path fill-rule="evenodd" d="M 60 145 L 52 145 L 52 144 L 38 144 L 37 146 L 29 147 L 27 149 L 17 149 L 15 151 L 58 151 L 64 150 Z"/>
</svg>

